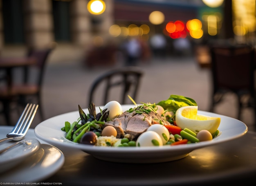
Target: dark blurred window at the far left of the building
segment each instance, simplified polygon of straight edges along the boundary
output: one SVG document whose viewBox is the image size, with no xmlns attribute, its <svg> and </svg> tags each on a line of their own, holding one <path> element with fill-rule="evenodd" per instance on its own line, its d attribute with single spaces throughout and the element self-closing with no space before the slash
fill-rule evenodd
<svg viewBox="0 0 256 186">
<path fill-rule="evenodd" d="M 24 26 L 21 0 L 2 0 L 4 43 L 23 44 Z"/>
</svg>

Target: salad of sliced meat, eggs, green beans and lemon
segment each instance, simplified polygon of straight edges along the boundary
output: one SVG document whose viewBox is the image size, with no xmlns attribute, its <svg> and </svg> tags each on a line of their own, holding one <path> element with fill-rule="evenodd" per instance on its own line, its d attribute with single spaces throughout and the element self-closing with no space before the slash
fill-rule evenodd
<svg viewBox="0 0 256 186">
<path fill-rule="evenodd" d="M 92 102 L 88 114 L 79 105 L 80 117 L 65 121 L 61 130 L 74 143 L 117 148 L 200 143 L 220 135 L 220 118 L 199 115 L 191 98 L 171 95 L 159 103 L 132 102 L 135 107 L 122 110 L 120 103 L 110 101 L 99 113 Z"/>
</svg>

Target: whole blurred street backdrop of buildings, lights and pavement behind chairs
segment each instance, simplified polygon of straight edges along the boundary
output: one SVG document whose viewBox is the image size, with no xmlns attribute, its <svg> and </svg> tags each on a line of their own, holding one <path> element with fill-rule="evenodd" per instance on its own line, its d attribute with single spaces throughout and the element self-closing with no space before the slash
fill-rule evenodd
<svg viewBox="0 0 256 186">
<path fill-rule="evenodd" d="M 0 0 L 1 57 L 25 56 L 30 47 L 56 43 L 43 81 L 44 119 L 76 111 L 78 105 L 87 108 L 92 81 L 107 70 L 129 65 L 126 47 L 133 39 L 141 53 L 132 65 L 144 71 L 138 102 L 157 103 L 178 94 L 209 111 L 211 69 L 200 65 L 210 60 L 207 43 L 255 42 L 255 0 L 222 0 L 218 5 L 206 0 L 105 0 L 96 13 L 88 2 Z M 17 81 L 19 74 L 17 69 Z M 225 100 L 215 112 L 236 118 L 235 96 Z M 255 130 L 253 113 L 243 110 L 249 130 Z M 14 125 L 18 114 L 12 115 Z M 37 115 L 31 127 L 40 122 Z M 2 114 L 0 125 L 6 125 Z"/>
</svg>

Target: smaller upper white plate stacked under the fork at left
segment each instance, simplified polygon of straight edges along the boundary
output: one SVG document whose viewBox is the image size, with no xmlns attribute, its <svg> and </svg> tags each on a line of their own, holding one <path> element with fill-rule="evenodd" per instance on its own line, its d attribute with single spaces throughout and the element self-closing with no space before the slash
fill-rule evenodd
<svg viewBox="0 0 256 186">
<path fill-rule="evenodd" d="M 1 143 L 0 150 L 11 146 L 14 143 L 19 144 L 0 154 L 0 173 L 3 173 L 4 171 L 13 168 L 14 166 L 22 162 L 25 158 L 27 158 L 29 155 L 34 154 L 40 148 L 40 142 L 37 139 L 24 138 L 18 142 L 10 140 L 8 142 Z"/>
</svg>

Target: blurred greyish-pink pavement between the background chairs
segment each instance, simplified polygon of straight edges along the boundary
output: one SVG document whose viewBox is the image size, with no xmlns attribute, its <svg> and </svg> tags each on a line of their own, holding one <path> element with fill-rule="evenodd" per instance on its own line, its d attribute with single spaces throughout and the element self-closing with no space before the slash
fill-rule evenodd
<svg viewBox="0 0 256 186">
<path fill-rule="evenodd" d="M 117 64 L 121 66 L 122 63 Z M 154 58 L 147 63 L 140 63 L 144 70 L 137 103 L 157 103 L 168 99 L 171 94 L 183 95 L 194 99 L 198 109 L 208 111 L 210 104 L 210 71 L 201 69 L 195 59 L 186 57 Z M 103 72 L 115 67 L 94 67 L 87 69 L 80 62 L 49 63 L 43 83 L 43 112 L 45 119 L 66 112 L 78 112 L 78 105 L 88 107 L 88 89 L 91 82 Z M 115 95 L 114 95 L 115 96 Z M 236 118 L 236 101 L 234 95 L 227 96 L 225 103 L 218 105 L 215 112 Z M 95 103 L 97 105 L 97 103 Z M 13 114 L 13 124 L 18 115 Z M 242 121 L 249 130 L 255 130 L 252 109 L 243 111 Z M 31 128 L 40 123 L 36 115 Z M 5 125 L 0 115 L 0 125 Z"/>
</svg>

